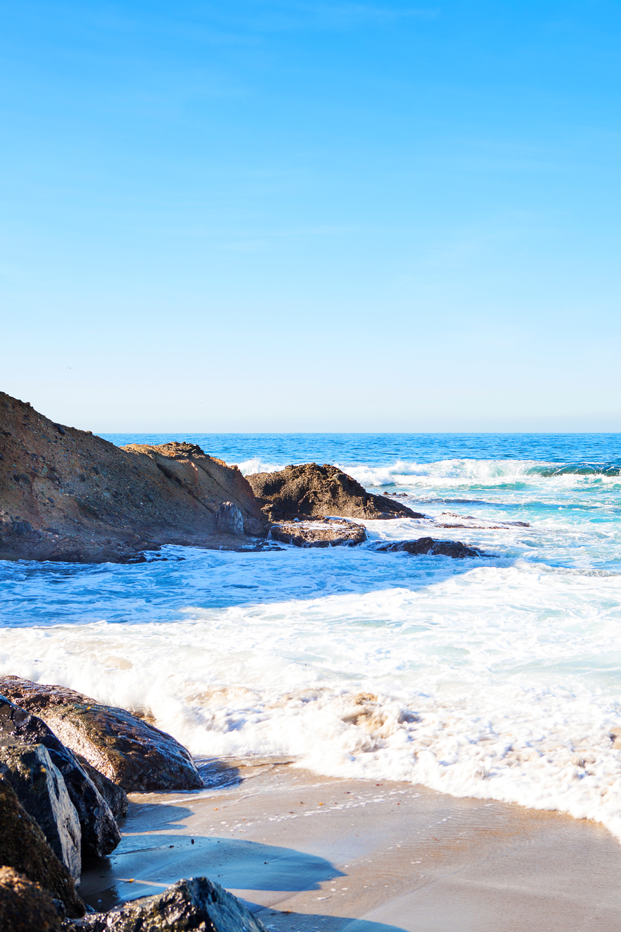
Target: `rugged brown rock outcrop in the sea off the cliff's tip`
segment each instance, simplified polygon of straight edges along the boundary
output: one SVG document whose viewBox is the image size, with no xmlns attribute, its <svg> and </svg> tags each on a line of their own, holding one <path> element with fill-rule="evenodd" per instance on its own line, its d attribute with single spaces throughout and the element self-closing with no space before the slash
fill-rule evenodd
<svg viewBox="0 0 621 932">
<path fill-rule="evenodd" d="M 278 473 L 247 476 L 250 487 L 270 521 L 293 518 L 422 518 L 400 501 L 371 495 L 336 466 L 304 463 Z"/>
</svg>

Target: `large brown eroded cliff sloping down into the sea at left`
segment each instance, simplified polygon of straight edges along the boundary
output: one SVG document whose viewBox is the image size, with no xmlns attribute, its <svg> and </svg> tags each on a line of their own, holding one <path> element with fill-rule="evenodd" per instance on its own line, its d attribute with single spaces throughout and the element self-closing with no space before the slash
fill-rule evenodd
<svg viewBox="0 0 621 932">
<path fill-rule="evenodd" d="M 236 466 L 193 444 L 123 449 L 0 392 L 0 557 L 124 562 L 163 543 L 237 548 L 216 531 L 230 501 L 246 535 L 267 525 Z"/>
</svg>

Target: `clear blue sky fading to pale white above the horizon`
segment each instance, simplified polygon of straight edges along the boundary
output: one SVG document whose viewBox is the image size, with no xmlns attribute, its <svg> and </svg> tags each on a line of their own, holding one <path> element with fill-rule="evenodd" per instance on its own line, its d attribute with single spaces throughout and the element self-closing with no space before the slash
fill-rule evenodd
<svg viewBox="0 0 621 932">
<path fill-rule="evenodd" d="M 621 6 L 2 4 L 1 388 L 94 431 L 621 431 Z"/>
</svg>

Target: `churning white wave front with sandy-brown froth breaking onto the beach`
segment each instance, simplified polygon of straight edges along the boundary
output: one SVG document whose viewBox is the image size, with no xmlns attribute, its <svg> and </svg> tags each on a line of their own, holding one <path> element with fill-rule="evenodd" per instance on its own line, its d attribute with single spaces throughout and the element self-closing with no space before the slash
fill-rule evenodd
<svg viewBox="0 0 621 932">
<path fill-rule="evenodd" d="M 278 692 L 157 676 L 123 660 L 117 650 L 115 677 L 92 658 L 78 676 L 45 664 L 42 680 L 151 713 L 197 758 L 286 757 L 326 776 L 421 783 L 453 796 L 593 819 L 621 840 L 614 704 L 514 685 L 479 702 L 462 691 L 445 701 L 317 685 Z M 23 666 L 18 672 L 35 673 Z"/>
</svg>

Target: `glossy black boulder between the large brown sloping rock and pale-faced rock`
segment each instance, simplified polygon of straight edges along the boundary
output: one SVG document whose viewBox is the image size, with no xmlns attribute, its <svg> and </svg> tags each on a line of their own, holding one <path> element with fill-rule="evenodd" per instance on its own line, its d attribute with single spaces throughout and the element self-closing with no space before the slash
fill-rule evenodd
<svg viewBox="0 0 621 932">
<path fill-rule="evenodd" d="M 82 857 L 104 857 L 115 850 L 121 840 L 115 816 L 97 784 L 87 774 L 74 752 L 64 747 L 45 721 L 30 715 L 7 693 L 20 693 L 19 677 L 0 678 L 0 743 L 42 744 L 53 764 L 62 774 L 82 829 Z M 127 811 L 127 808 L 126 808 Z"/>
</svg>

